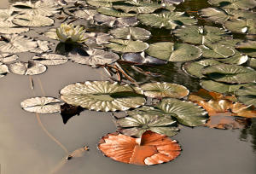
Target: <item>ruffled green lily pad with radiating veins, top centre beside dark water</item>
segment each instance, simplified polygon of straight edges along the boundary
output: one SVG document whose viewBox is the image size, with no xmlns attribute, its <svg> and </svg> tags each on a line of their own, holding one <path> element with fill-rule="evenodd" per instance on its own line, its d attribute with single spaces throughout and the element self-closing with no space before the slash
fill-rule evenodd
<svg viewBox="0 0 256 174">
<path fill-rule="evenodd" d="M 184 15 L 183 12 L 163 12 L 160 14 L 138 14 L 137 19 L 146 26 L 175 29 L 177 26 L 193 25 L 197 20 Z"/>
</svg>

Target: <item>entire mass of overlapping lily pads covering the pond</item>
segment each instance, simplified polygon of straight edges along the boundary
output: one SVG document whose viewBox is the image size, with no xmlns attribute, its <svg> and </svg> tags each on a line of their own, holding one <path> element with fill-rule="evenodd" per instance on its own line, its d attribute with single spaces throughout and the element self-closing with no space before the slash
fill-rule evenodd
<svg viewBox="0 0 256 174">
<path fill-rule="evenodd" d="M 234 116 L 256 117 L 256 42 L 234 38 L 231 33 L 256 34 L 256 15 L 249 10 L 256 6 L 254 1 L 209 0 L 216 7 L 199 14 L 224 27 L 195 26 L 195 17 L 176 9 L 183 1 L 61 2 L 14 3 L 10 9 L 0 10 L 0 78 L 9 72 L 44 73 L 46 66 L 68 60 L 91 67 L 111 66 L 121 72 L 116 61 L 150 66 L 182 62 L 183 70 L 201 78 L 206 90 L 189 95 L 180 84 L 138 85 L 126 73 L 115 72 L 128 81 L 119 77 L 114 83 L 69 84 L 61 90 L 60 99 L 38 96 L 21 102 L 26 111 L 57 113 L 64 103 L 70 108 L 113 114 L 125 111 L 124 117 L 114 118 L 117 132 L 102 137 L 98 148 L 112 159 L 135 165 L 175 159 L 181 148 L 168 136 L 177 134 L 178 125 L 236 129 L 241 128 L 241 120 Z M 148 44 L 152 33 L 145 28 L 149 27 L 168 30 L 178 42 Z M 89 32 L 91 28 L 99 31 Z M 40 39 L 31 38 L 31 32 L 38 33 Z M 20 61 L 24 52 L 34 54 L 30 61 Z M 219 119 L 212 125 L 222 114 L 232 120 Z M 113 152 L 113 147 L 118 148 Z"/>
</svg>

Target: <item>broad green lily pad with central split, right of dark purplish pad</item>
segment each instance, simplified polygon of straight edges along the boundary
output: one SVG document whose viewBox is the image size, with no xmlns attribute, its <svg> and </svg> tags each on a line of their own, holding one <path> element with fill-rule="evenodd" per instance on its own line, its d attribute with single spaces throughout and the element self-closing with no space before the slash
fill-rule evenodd
<svg viewBox="0 0 256 174">
<path fill-rule="evenodd" d="M 169 42 L 150 44 L 145 52 L 165 61 L 191 61 L 201 56 L 201 49 L 193 45 Z"/>
</svg>

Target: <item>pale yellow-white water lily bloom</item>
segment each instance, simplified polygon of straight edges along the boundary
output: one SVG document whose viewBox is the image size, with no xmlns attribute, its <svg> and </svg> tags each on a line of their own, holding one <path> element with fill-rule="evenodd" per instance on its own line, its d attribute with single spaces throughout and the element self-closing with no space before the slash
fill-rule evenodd
<svg viewBox="0 0 256 174">
<path fill-rule="evenodd" d="M 61 43 L 84 43 L 87 39 L 84 35 L 84 27 L 74 27 L 73 24 L 61 24 L 61 26 L 56 29 L 56 33 Z"/>
</svg>

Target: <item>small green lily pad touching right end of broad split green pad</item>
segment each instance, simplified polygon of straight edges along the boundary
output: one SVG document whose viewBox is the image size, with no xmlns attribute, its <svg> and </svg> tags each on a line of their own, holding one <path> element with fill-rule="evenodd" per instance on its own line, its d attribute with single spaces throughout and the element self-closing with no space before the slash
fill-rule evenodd
<svg viewBox="0 0 256 174">
<path fill-rule="evenodd" d="M 222 44 L 207 44 L 201 45 L 199 48 L 202 51 L 202 56 L 206 58 L 228 58 L 235 55 L 235 49 Z"/>
</svg>

